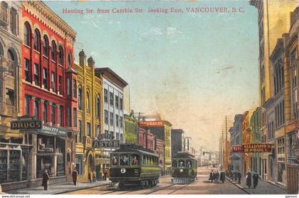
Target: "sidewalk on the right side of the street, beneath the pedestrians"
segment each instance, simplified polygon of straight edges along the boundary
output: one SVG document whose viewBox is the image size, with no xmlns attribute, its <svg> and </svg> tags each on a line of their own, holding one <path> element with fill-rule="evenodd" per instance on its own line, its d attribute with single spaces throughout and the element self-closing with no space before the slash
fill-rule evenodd
<svg viewBox="0 0 299 198">
<path fill-rule="evenodd" d="M 287 194 L 286 189 L 283 189 L 282 187 L 278 187 L 276 184 L 272 184 L 271 182 L 266 182 L 261 179 L 258 179 L 258 185 L 256 189 L 253 189 L 253 185 L 251 186 L 251 189 L 248 189 L 248 187 L 246 186 L 245 177 L 241 179 L 241 184 L 238 184 L 238 182 L 233 182 L 228 177 L 226 177 L 226 179 L 235 184 L 237 187 L 248 192 L 248 194 Z M 253 184 L 252 181 L 251 184 Z"/>
</svg>

